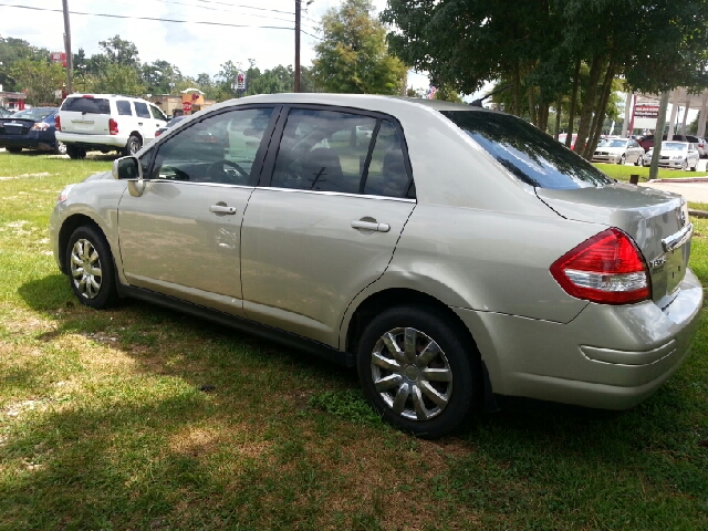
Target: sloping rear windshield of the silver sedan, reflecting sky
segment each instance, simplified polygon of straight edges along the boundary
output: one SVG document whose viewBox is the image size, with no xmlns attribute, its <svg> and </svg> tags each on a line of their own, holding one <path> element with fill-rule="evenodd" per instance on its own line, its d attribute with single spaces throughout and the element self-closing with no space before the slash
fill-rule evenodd
<svg viewBox="0 0 708 531">
<path fill-rule="evenodd" d="M 531 186 L 563 190 L 614 183 L 563 144 L 516 116 L 479 111 L 441 113 Z"/>
</svg>

